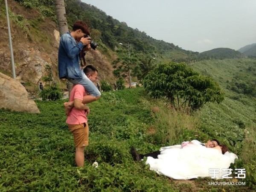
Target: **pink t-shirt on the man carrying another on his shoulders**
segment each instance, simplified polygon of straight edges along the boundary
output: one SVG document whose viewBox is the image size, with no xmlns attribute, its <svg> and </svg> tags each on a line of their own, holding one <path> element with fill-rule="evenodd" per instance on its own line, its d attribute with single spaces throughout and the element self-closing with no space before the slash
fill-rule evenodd
<svg viewBox="0 0 256 192">
<path fill-rule="evenodd" d="M 70 101 L 74 101 L 74 99 L 83 100 L 85 95 L 87 95 L 87 92 L 84 87 L 81 84 L 76 84 L 70 91 Z M 84 110 L 79 110 L 73 107 L 67 117 L 66 123 L 69 125 L 79 125 L 85 122 L 87 122 L 87 116 L 85 115 Z"/>
</svg>

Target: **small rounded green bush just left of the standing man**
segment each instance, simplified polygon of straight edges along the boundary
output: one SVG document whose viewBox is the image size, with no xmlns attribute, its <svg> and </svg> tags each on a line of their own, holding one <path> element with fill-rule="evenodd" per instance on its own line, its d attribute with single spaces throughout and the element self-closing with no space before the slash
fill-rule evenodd
<svg viewBox="0 0 256 192">
<path fill-rule="evenodd" d="M 63 97 L 63 91 L 56 85 L 45 86 L 43 90 L 38 94 L 43 101 L 51 100 L 56 101 Z"/>
</svg>

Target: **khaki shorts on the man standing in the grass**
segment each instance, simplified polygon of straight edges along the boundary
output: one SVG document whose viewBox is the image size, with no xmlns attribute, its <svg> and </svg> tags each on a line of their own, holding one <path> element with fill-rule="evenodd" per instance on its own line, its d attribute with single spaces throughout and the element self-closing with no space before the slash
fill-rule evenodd
<svg viewBox="0 0 256 192">
<path fill-rule="evenodd" d="M 68 125 L 68 128 L 73 133 L 75 147 L 84 147 L 89 145 L 88 123 L 82 123 L 80 125 Z"/>
</svg>

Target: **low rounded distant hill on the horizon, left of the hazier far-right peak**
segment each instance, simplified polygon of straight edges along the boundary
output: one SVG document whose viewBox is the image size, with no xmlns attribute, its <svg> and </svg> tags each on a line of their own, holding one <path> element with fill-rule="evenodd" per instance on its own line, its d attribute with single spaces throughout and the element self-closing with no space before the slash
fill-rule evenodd
<svg viewBox="0 0 256 192">
<path fill-rule="evenodd" d="M 244 55 L 234 49 L 216 48 L 199 53 L 200 59 L 224 59 L 224 58 L 244 58 Z"/>
</svg>

